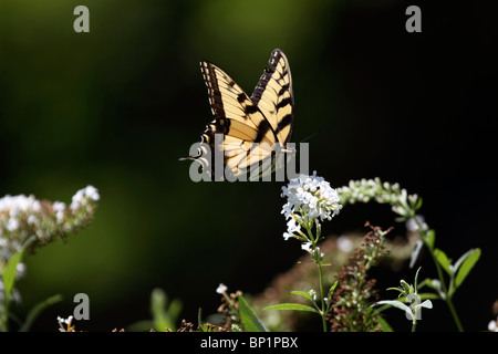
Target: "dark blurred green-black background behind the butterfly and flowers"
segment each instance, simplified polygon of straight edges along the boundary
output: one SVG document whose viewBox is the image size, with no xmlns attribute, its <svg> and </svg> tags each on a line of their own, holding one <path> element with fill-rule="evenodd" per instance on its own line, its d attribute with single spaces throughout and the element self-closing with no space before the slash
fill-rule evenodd
<svg viewBox="0 0 498 354">
<path fill-rule="evenodd" d="M 79 4 L 90 33 L 73 31 Z M 405 30 L 409 4 L 422 9 L 422 33 Z M 199 60 L 250 94 L 280 48 L 293 75 L 293 142 L 320 131 L 310 168 L 334 187 L 397 181 L 424 198 L 450 258 L 481 248 L 454 301 L 466 330 L 485 330 L 498 298 L 496 44 L 496 13 L 476 1 L 2 1 L 0 196 L 69 204 L 89 184 L 101 194 L 89 229 L 27 258 L 14 311 L 62 293 L 34 326 L 56 331 L 84 292 L 91 320 L 77 329 L 110 331 L 149 317 L 160 287 L 196 321 L 199 306 L 216 311 L 218 283 L 256 294 L 292 267 L 302 251 L 282 238 L 282 183 L 195 184 L 178 162 L 211 119 Z M 365 220 L 404 233 L 377 205 L 347 207 L 323 227 L 339 235 Z M 421 264 L 436 277 L 429 259 Z M 413 274 L 380 272 L 378 288 Z M 455 325 L 437 302 L 417 330 Z"/>
</svg>

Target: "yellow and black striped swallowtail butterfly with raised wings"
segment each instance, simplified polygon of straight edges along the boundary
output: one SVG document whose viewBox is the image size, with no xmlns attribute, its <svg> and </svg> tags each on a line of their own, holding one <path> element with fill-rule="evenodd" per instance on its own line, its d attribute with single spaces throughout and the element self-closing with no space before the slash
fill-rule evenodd
<svg viewBox="0 0 498 354">
<path fill-rule="evenodd" d="M 287 144 L 292 135 L 294 98 L 283 52 L 277 49 L 271 53 L 250 97 L 217 65 L 201 61 L 200 70 L 214 121 L 201 134 L 204 147 L 189 158 L 199 162 L 212 180 L 227 179 L 227 174 L 236 179 L 250 174 L 250 180 L 271 175 L 282 165 L 282 155 L 293 152 Z M 220 155 L 225 174 L 217 174 L 211 162 Z"/>
</svg>

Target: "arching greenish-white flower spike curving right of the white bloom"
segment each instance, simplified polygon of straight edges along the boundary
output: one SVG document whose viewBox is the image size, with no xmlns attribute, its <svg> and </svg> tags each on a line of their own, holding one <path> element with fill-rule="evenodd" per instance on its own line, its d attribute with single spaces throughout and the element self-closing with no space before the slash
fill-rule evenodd
<svg viewBox="0 0 498 354">
<path fill-rule="evenodd" d="M 407 220 L 422 206 L 417 195 L 408 195 L 398 184 L 382 183 L 380 178 L 351 180 L 347 186 L 338 188 L 341 204 L 369 202 L 374 199 L 381 204 L 391 204 L 393 211 Z"/>
</svg>

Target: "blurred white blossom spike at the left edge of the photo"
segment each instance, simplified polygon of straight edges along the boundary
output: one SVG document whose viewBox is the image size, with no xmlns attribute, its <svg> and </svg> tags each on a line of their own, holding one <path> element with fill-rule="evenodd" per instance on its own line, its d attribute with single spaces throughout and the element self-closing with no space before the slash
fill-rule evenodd
<svg viewBox="0 0 498 354">
<path fill-rule="evenodd" d="M 0 274 L 28 239 L 33 238 L 29 250 L 34 251 L 55 239 L 65 239 L 68 233 L 90 223 L 98 199 L 98 190 L 93 186 L 79 190 L 70 207 L 61 201 L 38 200 L 34 196 L 0 198 Z M 19 263 L 18 271 L 23 269 L 24 264 Z M 20 275 L 22 272 L 18 272 Z M 0 288 L 3 288 L 1 281 Z"/>
</svg>

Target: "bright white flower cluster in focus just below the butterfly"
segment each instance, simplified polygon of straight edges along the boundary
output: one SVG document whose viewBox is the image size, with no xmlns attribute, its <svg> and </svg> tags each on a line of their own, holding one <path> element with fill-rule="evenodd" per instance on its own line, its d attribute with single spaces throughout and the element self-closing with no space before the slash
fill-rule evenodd
<svg viewBox="0 0 498 354">
<path fill-rule="evenodd" d="M 335 189 L 323 177 L 317 176 L 317 171 L 312 176 L 300 175 L 291 179 L 287 187 L 282 187 L 281 196 L 287 198 L 282 214 L 289 219 L 288 230 L 283 233 L 286 240 L 294 232 L 301 232 L 303 222 L 331 220 L 342 208 Z"/>
</svg>

